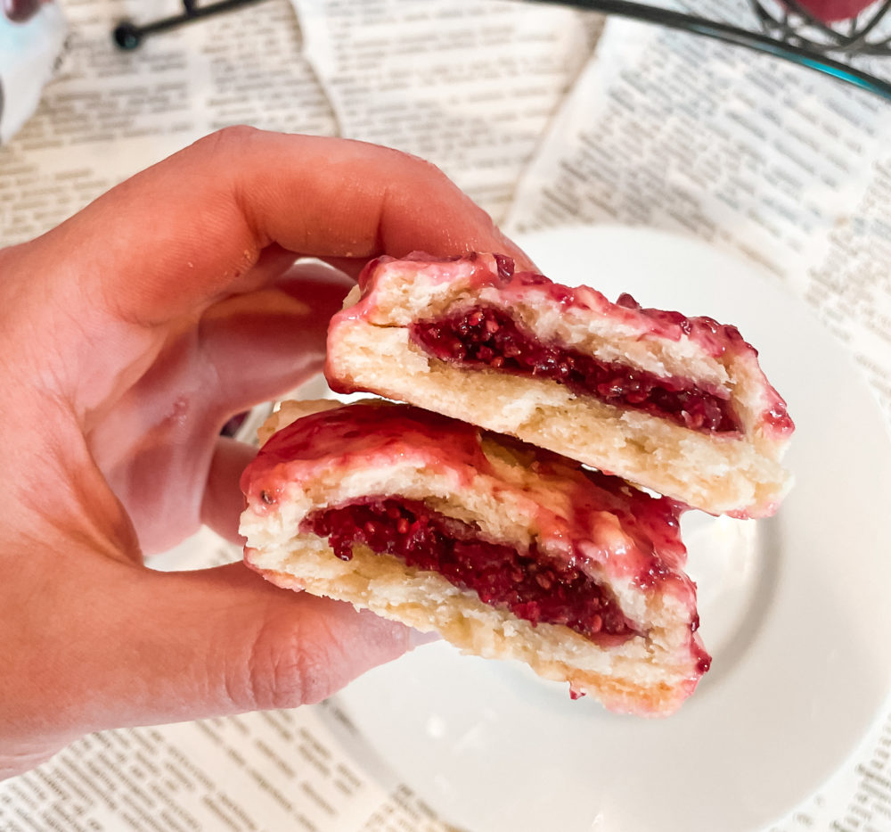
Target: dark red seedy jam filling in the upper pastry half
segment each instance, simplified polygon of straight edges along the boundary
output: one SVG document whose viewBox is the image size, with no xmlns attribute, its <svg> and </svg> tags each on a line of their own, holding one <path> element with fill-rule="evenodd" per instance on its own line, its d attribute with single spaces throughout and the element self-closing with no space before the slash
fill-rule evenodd
<svg viewBox="0 0 891 832">
<path fill-rule="evenodd" d="M 429 354 L 465 367 L 493 367 L 565 384 L 621 408 L 642 410 L 699 432 L 738 432 L 729 402 L 689 378 L 608 363 L 528 334 L 502 309 L 480 306 L 451 317 L 418 321 L 411 337 Z"/>
</svg>

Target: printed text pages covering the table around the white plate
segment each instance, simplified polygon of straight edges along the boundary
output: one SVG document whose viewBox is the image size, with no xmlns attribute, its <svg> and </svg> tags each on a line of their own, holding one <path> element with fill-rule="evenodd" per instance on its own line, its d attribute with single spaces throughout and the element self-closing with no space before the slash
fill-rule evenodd
<svg viewBox="0 0 891 832">
<path fill-rule="evenodd" d="M 813 304 L 891 408 L 891 108 L 869 95 L 701 38 L 618 20 L 601 35 L 597 16 L 505 0 L 266 0 L 116 51 L 116 21 L 178 9 L 152 5 L 65 4 L 60 74 L 0 148 L 0 243 L 227 124 L 362 138 L 435 162 L 512 231 L 619 221 L 755 260 Z M 240 556 L 202 531 L 151 565 Z M 889 754 L 891 714 L 773 830 L 891 832 Z M 102 732 L 0 784 L 0 832 L 446 828 L 337 697 Z"/>
</svg>

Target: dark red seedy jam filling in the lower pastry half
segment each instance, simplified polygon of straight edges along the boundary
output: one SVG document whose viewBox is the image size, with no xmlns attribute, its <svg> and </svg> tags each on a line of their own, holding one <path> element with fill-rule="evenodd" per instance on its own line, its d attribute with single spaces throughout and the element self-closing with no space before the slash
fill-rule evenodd
<svg viewBox="0 0 891 832">
<path fill-rule="evenodd" d="M 300 528 L 328 538 L 342 560 L 352 558 L 354 543 L 364 543 L 378 554 L 439 573 L 533 625 L 563 624 L 594 640 L 624 640 L 636 632 L 608 590 L 576 567 L 545 564 L 535 545 L 524 554 L 481 540 L 474 526 L 420 501 L 365 498 L 315 511 Z"/>
</svg>

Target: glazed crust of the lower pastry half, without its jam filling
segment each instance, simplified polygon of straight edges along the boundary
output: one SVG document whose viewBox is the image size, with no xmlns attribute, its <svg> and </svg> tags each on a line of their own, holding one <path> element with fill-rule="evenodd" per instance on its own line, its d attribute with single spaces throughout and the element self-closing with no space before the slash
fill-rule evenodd
<svg viewBox="0 0 891 832">
<path fill-rule="evenodd" d="M 326 409 L 307 416 L 313 404 L 285 403 L 270 425 L 279 432 L 242 477 L 249 566 L 282 587 L 437 630 L 468 653 L 518 659 L 611 710 L 664 715 L 692 693 L 708 657 L 671 501 L 418 408 L 319 404 Z M 576 558 L 608 588 L 634 635 L 588 638 L 561 624 L 533 625 L 362 542 L 340 559 L 307 530 L 314 512 L 369 496 L 421 500 L 483 540 L 519 551 L 535 544 L 555 563 Z"/>
</svg>

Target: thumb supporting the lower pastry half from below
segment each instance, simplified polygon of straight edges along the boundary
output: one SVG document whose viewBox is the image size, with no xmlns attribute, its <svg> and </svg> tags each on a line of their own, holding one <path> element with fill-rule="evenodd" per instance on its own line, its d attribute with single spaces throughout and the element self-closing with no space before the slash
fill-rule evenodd
<svg viewBox="0 0 891 832">
<path fill-rule="evenodd" d="M 165 720 L 320 702 L 412 642 L 413 631 L 402 624 L 280 589 L 241 563 L 152 573 L 156 581 L 157 588 L 139 592 L 150 600 L 153 618 L 135 617 L 124 643 L 162 648 L 160 667 L 139 675 L 178 701 L 158 714 Z M 159 670 L 168 671 L 167 680 Z"/>
</svg>

